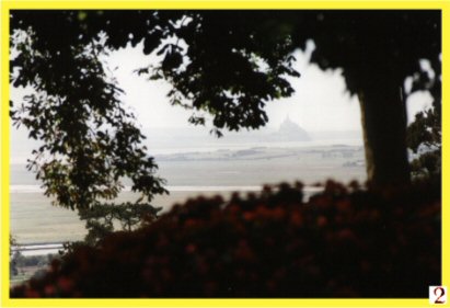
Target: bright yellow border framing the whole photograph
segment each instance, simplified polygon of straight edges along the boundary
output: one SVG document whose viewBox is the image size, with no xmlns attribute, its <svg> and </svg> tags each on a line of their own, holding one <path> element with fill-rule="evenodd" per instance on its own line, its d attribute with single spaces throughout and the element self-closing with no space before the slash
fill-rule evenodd
<svg viewBox="0 0 450 308">
<path fill-rule="evenodd" d="M 220 1 L 120 1 L 120 0 L 1 0 L 1 280 L 0 307 L 423 307 L 430 306 L 428 298 L 423 299 L 11 299 L 9 284 L 9 156 L 10 156 L 10 124 L 9 124 L 9 14 L 10 10 L 37 9 L 437 9 L 442 12 L 442 84 L 450 79 L 450 1 L 267 1 L 267 0 L 220 0 Z M 450 98 L 450 87 L 442 87 L 442 101 Z M 448 146 L 450 136 L 449 109 L 442 103 L 442 187 L 450 187 Z M 450 286 L 450 208 L 449 191 L 442 189 L 442 285 Z M 428 286 L 424 286 L 428 287 Z M 449 296 L 448 296 L 449 298 Z M 450 299 L 450 298 L 449 298 Z M 448 299 L 448 300 L 449 300 Z M 449 301 L 443 307 L 449 306 Z"/>
</svg>

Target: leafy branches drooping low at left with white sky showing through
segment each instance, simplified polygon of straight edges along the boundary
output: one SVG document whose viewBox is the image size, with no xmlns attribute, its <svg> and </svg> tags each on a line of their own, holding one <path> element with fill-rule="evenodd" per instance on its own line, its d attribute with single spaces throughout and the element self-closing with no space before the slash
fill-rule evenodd
<svg viewBox="0 0 450 308">
<path fill-rule="evenodd" d="M 50 52 L 34 47 L 34 33 L 28 32 L 12 35 L 20 52 L 12 60 L 20 64 L 12 81 L 35 91 L 11 114 L 15 125 L 30 129 L 31 138 L 44 141 L 28 168 L 43 181 L 46 195 L 56 195 L 59 205 L 72 209 L 90 207 L 99 198 L 117 196 L 123 176 L 130 178 L 132 191 L 142 192 L 147 201 L 165 192 L 154 176 L 153 159 L 140 145 L 145 137 L 135 116 L 122 106 L 120 90 L 99 60 L 103 45 L 93 41 L 71 46 L 70 57 L 56 52 L 55 62 Z M 66 60 L 58 64 L 58 55 Z"/>
</svg>

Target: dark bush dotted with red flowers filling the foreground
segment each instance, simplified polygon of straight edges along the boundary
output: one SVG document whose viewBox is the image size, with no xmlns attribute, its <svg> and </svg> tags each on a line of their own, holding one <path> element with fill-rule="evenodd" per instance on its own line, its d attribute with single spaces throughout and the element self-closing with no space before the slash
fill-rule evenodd
<svg viewBox="0 0 450 308">
<path fill-rule="evenodd" d="M 188 199 L 79 247 L 12 297 L 427 297 L 441 283 L 440 186 L 281 184 Z"/>
</svg>

